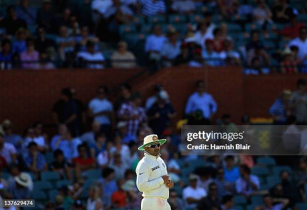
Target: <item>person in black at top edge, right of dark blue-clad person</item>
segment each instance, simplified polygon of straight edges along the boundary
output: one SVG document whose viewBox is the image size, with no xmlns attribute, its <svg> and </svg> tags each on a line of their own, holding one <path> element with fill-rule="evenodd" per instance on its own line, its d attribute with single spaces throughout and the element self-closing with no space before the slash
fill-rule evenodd
<svg viewBox="0 0 307 210">
<path fill-rule="evenodd" d="M 52 33 L 52 22 L 55 20 L 55 16 L 51 7 L 51 0 L 43 0 L 43 7 L 37 11 L 36 23 L 39 27 L 45 28 L 47 33 Z"/>
</svg>

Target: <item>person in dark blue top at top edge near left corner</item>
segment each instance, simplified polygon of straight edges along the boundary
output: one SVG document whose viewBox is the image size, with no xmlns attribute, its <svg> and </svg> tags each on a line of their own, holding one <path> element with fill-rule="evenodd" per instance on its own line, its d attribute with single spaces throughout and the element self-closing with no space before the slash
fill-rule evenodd
<svg viewBox="0 0 307 210">
<path fill-rule="evenodd" d="M 21 0 L 18 7 L 16 7 L 17 18 L 27 22 L 28 25 L 35 25 L 36 23 L 36 9 L 29 6 L 29 0 Z"/>
</svg>

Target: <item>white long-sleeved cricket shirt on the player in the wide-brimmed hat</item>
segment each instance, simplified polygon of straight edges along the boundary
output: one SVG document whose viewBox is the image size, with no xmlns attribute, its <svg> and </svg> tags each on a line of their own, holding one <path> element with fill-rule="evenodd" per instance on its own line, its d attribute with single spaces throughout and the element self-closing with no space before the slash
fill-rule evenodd
<svg viewBox="0 0 307 210">
<path fill-rule="evenodd" d="M 165 162 L 160 156 L 155 157 L 144 152 L 144 157 L 138 162 L 136 186 L 143 192 L 143 197 L 169 198 L 169 188 L 164 184 L 163 175 L 168 175 Z"/>
</svg>

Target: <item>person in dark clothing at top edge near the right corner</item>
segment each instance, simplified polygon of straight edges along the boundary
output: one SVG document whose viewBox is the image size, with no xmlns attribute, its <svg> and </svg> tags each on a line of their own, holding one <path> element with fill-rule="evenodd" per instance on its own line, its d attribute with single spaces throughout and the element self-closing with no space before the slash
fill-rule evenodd
<svg viewBox="0 0 307 210">
<path fill-rule="evenodd" d="M 274 23 L 287 24 L 293 15 L 293 9 L 289 7 L 286 0 L 278 0 L 272 8 L 272 20 Z"/>
</svg>

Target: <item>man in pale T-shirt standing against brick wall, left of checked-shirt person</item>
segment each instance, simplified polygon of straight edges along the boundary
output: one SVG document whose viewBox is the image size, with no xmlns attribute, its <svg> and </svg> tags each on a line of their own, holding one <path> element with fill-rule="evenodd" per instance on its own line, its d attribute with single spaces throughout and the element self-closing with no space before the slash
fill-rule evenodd
<svg viewBox="0 0 307 210">
<path fill-rule="evenodd" d="M 89 113 L 94 121 L 99 122 L 100 130 L 105 133 L 107 138 L 111 138 L 113 105 L 106 98 L 108 93 L 107 86 L 101 85 L 97 88 L 97 96 L 89 104 Z"/>
</svg>

